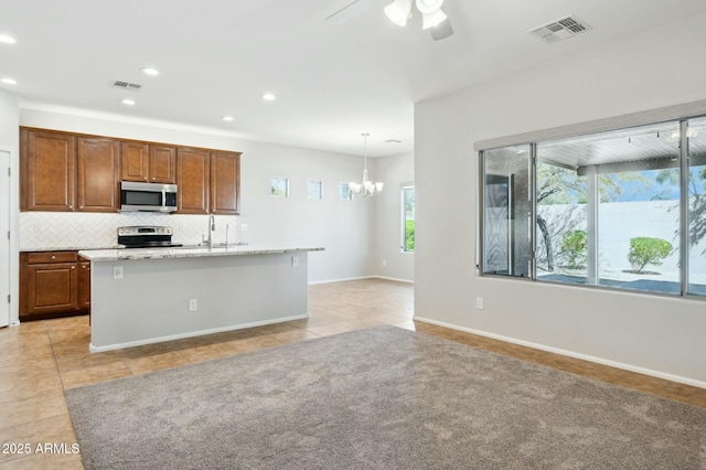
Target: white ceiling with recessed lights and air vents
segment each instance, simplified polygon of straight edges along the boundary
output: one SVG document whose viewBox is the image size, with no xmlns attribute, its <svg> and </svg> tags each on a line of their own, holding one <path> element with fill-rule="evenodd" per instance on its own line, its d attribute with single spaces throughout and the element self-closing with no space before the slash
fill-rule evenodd
<svg viewBox="0 0 706 470">
<path fill-rule="evenodd" d="M 389 22 L 392 0 L 343 25 L 325 21 L 351 1 L 0 0 L 0 34 L 18 41 L 0 44 L 0 77 L 18 84 L 0 86 L 28 107 L 344 153 L 362 154 L 370 132 L 368 153 L 384 156 L 413 150 L 416 102 L 706 12 L 704 0 L 446 0 L 456 34 L 435 42 L 418 15 L 404 29 Z M 591 30 L 554 44 L 527 33 L 569 14 Z M 146 76 L 145 66 L 161 75 Z M 114 81 L 142 88 L 119 90 Z M 277 100 L 264 102 L 265 92 Z"/>
</svg>

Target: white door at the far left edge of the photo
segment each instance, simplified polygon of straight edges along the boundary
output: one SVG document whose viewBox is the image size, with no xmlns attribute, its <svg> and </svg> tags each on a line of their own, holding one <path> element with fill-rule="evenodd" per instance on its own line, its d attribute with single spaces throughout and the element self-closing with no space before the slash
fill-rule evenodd
<svg viewBox="0 0 706 470">
<path fill-rule="evenodd" d="M 10 152 L 0 149 L 0 328 L 10 324 Z"/>
</svg>

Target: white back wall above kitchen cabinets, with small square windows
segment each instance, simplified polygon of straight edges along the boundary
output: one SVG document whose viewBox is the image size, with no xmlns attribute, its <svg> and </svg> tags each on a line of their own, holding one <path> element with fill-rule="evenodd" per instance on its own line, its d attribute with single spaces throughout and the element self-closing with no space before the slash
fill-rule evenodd
<svg viewBox="0 0 706 470">
<path fill-rule="evenodd" d="M 340 201 L 338 195 L 340 182 L 362 175 L 361 157 L 238 140 L 225 132 L 169 122 L 130 121 L 120 116 L 35 104 L 21 103 L 20 107 L 22 126 L 240 151 L 242 215 L 237 224 L 247 224 L 248 232 L 238 233 L 239 239 L 288 247 L 324 247 L 325 252 L 312 253 L 309 257 L 311 282 L 373 274 L 374 207 L 365 200 Z M 17 135 L 17 122 L 14 132 Z M 270 196 L 271 177 L 290 179 L 290 197 Z M 322 201 L 307 200 L 309 179 L 323 181 Z"/>
</svg>

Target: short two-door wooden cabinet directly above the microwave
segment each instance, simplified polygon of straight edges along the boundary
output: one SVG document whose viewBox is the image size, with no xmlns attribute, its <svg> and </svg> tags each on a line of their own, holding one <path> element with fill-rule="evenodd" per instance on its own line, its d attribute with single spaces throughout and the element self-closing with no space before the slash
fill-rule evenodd
<svg viewBox="0 0 706 470">
<path fill-rule="evenodd" d="M 176 183 L 176 149 L 142 142 L 122 142 L 122 181 Z"/>
</svg>

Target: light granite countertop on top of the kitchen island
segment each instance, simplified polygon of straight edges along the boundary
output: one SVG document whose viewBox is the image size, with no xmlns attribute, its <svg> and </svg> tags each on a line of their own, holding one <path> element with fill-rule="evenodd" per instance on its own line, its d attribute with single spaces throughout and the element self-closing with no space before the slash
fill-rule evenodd
<svg viewBox="0 0 706 470">
<path fill-rule="evenodd" d="M 204 246 L 175 248 L 130 248 L 130 249 L 82 249 L 78 255 L 92 261 L 117 261 L 120 259 L 195 258 L 204 256 L 271 255 L 278 253 L 323 252 L 323 247 L 261 247 L 252 245 Z"/>
</svg>

